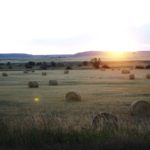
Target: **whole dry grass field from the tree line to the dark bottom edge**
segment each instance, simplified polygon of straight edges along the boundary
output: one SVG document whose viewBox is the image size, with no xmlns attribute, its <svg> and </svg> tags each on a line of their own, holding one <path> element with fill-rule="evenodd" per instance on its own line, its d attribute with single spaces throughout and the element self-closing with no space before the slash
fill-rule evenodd
<svg viewBox="0 0 150 150">
<path fill-rule="evenodd" d="M 42 75 L 42 70 L 6 71 L 8 76 L 2 76 L 3 72 L 0 72 L 1 148 L 3 145 L 4 149 L 18 148 L 21 144 L 27 149 L 32 146 L 37 149 L 39 145 L 41 149 L 49 149 L 46 145 L 58 150 L 104 149 L 109 147 L 107 142 L 113 147 L 117 142 L 126 149 L 131 146 L 138 149 L 137 141 L 138 145 L 144 143 L 142 148 L 149 145 L 150 121 L 131 116 L 130 105 L 137 100 L 150 102 L 150 79 L 146 78 L 150 70 L 130 70 L 135 75 L 133 80 L 122 69 L 70 70 L 68 74 L 63 70 L 47 70 L 46 75 Z M 53 80 L 58 85 L 51 85 Z M 29 88 L 29 81 L 37 81 L 39 87 Z M 81 101 L 66 101 L 65 95 L 70 91 L 80 94 Z M 117 132 L 93 130 L 92 120 L 100 112 L 117 116 Z"/>
</svg>

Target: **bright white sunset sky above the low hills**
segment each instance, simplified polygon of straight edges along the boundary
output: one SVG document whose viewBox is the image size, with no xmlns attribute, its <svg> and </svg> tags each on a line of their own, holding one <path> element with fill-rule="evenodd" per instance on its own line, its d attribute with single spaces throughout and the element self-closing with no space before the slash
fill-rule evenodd
<svg viewBox="0 0 150 150">
<path fill-rule="evenodd" d="M 150 50 L 149 0 L 0 0 L 0 53 Z"/>
</svg>

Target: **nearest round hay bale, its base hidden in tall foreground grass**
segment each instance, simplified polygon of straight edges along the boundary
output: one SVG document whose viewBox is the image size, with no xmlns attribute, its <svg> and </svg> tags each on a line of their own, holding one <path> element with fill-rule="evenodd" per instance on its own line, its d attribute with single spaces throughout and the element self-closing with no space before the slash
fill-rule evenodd
<svg viewBox="0 0 150 150">
<path fill-rule="evenodd" d="M 94 117 L 92 127 L 95 130 L 117 130 L 118 118 L 111 113 L 99 113 Z"/>
</svg>

